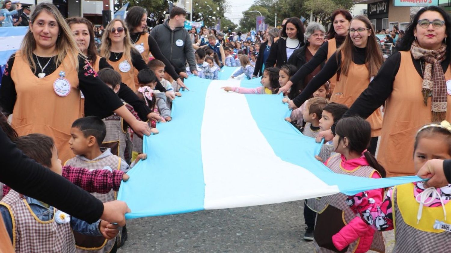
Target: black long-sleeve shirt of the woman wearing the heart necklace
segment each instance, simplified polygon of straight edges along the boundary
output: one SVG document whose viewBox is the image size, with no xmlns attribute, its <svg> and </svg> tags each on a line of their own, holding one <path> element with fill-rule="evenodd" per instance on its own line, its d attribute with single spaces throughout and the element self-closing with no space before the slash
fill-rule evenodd
<svg viewBox="0 0 451 253">
<path fill-rule="evenodd" d="M 17 99 L 14 81 L 10 75 L 11 69 L 14 65 L 14 56 L 15 54 L 13 54 L 8 60 L 8 65 L 5 68 L 5 72 L 2 77 L 2 84 L 0 86 L 0 106 L 6 114 L 13 113 L 14 104 Z M 46 75 L 50 75 L 56 70 L 57 66 L 55 66 L 54 57 L 37 57 L 33 54 L 33 60 L 39 70 L 36 71 L 36 76 L 40 72 L 39 65 L 37 64 L 38 59 L 41 64 L 50 60 L 44 70 Z M 85 97 L 85 115 L 95 115 L 103 119 L 111 115 L 112 111 L 118 109 L 124 104 L 116 96 L 113 90 L 108 88 L 108 86 L 106 86 L 98 76 L 91 75 L 88 72 L 92 70 L 91 67 L 84 69 L 86 64 L 87 62 L 85 59 L 78 57 L 78 85 Z M 32 71 L 34 72 L 34 70 Z M 87 75 L 85 75 L 85 73 Z"/>
</svg>

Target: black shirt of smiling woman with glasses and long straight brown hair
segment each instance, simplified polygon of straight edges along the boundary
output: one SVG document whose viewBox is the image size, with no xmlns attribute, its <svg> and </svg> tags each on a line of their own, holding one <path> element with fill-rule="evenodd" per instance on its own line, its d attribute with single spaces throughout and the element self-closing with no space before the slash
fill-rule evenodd
<svg viewBox="0 0 451 253">
<path fill-rule="evenodd" d="M 366 48 L 353 47 L 352 61 L 355 64 L 365 64 Z M 318 49 L 319 50 L 319 49 Z M 316 54 L 315 54 L 316 55 Z M 313 56 L 314 57 L 314 56 Z M 313 58 L 312 58 L 313 59 Z M 311 62 L 311 60 L 309 61 Z M 305 63 L 307 65 L 308 63 Z M 319 71 L 317 75 L 307 84 L 305 89 L 295 98 L 293 102 L 297 107 L 300 107 L 321 85 L 325 84 L 327 80 L 331 79 L 341 67 L 341 54 L 336 52 L 331 55 L 331 58 L 326 62 L 326 65 Z M 302 67 L 303 68 L 303 67 Z M 301 69 L 302 69 L 301 68 Z"/>
</svg>

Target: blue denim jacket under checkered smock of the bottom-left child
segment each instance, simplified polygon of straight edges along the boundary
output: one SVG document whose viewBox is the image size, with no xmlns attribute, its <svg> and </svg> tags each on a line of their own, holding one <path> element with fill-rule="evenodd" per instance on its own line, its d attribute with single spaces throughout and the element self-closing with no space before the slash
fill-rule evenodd
<svg viewBox="0 0 451 253">
<path fill-rule="evenodd" d="M 46 222 L 46 221 L 50 221 L 53 218 L 53 213 L 54 213 L 53 206 L 50 206 L 49 208 L 47 208 L 38 200 L 27 197 L 27 196 L 25 196 L 25 200 L 27 200 L 27 203 L 30 206 L 32 212 L 36 215 L 36 217 L 39 220 Z M 9 238 L 11 238 L 11 241 L 12 241 L 13 240 L 13 221 L 11 219 L 11 214 L 9 213 L 8 209 L 3 205 L 0 205 L 0 213 L 1 213 L 1 216 L 3 217 L 3 221 L 5 222 L 6 231 L 8 231 Z M 73 216 L 70 217 L 70 226 L 72 227 L 72 229 L 83 235 L 102 236 L 102 233 L 100 232 L 100 229 L 99 229 L 99 223 L 100 223 L 100 220 L 98 220 L 97 222 L 94 222 L 92 224 L 89 224 L 76 217 L 73 217 Z"/>
</svg>

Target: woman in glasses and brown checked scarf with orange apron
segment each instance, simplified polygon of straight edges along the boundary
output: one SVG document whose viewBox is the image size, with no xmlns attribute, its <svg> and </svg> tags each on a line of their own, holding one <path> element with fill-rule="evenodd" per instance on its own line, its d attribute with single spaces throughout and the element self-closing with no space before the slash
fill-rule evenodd
<svg viewBox="0 0 451 253">
<path fill-rule="evenodd" d="M 416 131 L 451 120 L 450 17 L 440 7 L 421 9 L 368 89 L 343 116 L 368 117 L 385 103 L 377 154 L 387 176 L 414 175 Z"/>
</svg>

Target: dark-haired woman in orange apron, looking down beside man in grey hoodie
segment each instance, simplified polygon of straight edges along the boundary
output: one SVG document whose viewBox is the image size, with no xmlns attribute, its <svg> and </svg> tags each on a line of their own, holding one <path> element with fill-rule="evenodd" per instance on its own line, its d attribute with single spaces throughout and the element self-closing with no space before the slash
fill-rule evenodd
<svg viewBox="0 0 451 253">
<path fill-rule="evenodd" d="M 179 75 L 188 78 L 188 75 L 184 71 L 175 71 L 169 60 L 161 53 L 160 47 L 156 43 L 156 40 L 147 32 L 147 11 L 140 6 L 133 6 L 127 11 L 127 17 L 125 17 L 125 23 L 130 30 L 130 41 L 134 48 L 141 53 L 144 62 L 149 62 L 149 55 L 153 58 L 164 62 L 165 71 L 177 81 L 180 87 L 185 88 L 183 81 Z M 135 71 L 135 82 L 138 81 L 138 71 Z"/>
</svg>

